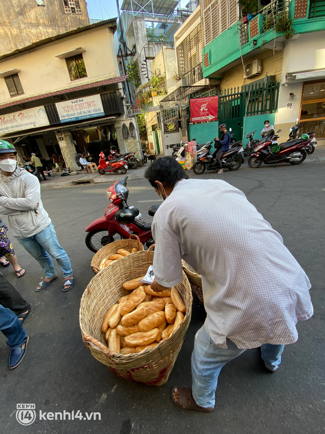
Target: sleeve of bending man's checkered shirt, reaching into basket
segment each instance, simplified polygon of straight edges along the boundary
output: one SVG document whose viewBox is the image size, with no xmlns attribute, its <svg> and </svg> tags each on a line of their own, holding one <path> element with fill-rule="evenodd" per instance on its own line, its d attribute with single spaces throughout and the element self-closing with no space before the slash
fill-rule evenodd
<svg viewBox="0 0 325 434">
<path fill-rule="evenodd" d="M 183 281 L 180 243 L 175 234 L 152 224 L 152 233 L 156 242 L 154 254 L 154 274 L 157 282 L 167 288 Z"/>
</svg>

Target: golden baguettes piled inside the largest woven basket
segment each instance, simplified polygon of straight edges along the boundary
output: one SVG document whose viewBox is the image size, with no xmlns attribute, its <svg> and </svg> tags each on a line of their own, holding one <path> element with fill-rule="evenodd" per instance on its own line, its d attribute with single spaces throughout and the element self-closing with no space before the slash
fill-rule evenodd
<svg viewBox="0 0 325 434">
<path fill-rule="evenodd" d="M 111 353 L 140 353 L 154 348 L 183 322 L 186 312 L 178 290 L 161 292 L 141 285 L 141 276 L 125 282 L 130 294 L 110 307 L 101 325 Z"/>
</svg>

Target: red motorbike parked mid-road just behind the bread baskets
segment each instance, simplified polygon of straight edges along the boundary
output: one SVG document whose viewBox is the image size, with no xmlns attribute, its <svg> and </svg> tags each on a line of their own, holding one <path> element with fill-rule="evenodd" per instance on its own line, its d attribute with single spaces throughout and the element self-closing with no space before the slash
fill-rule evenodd
<svg viewBox="0 0 325 434">
<path fill-rule="evenodd" d="M 127 188 L 127 179 L 119 180 L 113 183 L 106 191 L 108 207 L 103 217 L 97 218 L 89 224 L 85 231 L 86 246 L 92 252 L 98 252 L 103 246 L 113 241 L 123 238 L 129 238 L 135 234 L 139 237 L 140 242 L 147 248 L 154 244 L 151 233 L 152 220 L 146 220 L 141 216 L 139 210 L 135 207 L 129 207 L 127 199 L 129 190 Z M 152 206 L 148 214 L 154 216 L 159 205 Z"/>
</svg>

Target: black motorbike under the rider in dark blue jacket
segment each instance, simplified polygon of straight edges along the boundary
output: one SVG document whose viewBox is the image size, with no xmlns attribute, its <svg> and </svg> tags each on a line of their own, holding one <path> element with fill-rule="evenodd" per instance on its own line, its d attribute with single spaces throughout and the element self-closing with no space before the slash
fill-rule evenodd
<svg viewBox="0 0 325 434">
<path fill-rule="evenodd" d="M 217 142 L 215 140 L 215 142 Z M 210 149 L 212 145 L 207 145 L 206 150 L 202 153 L 202 155 L 198 158 L 195 165 L 193 166 L 193 172 L 196 175 L 202 175 L 205 170 L 217 170 L 218 163 L 213 159 L 213 156 L 210 154 Z M 215 143 L 216 147 L 216 143 Z M 222 167 L 223 169 L 229 170 L 238 170 L 242 163 L 242 157 L 238 154 L 238 151 L 241 147 L 229 147 L 229 149 L 222 155 Z"/>
</svg>

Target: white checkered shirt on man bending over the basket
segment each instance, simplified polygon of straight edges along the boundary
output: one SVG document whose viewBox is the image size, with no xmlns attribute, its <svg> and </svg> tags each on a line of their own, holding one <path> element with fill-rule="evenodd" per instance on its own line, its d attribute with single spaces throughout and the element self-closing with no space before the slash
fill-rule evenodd
<svg viewBox="0 0 325 434">
<path fill-rule="evenodd" d="M 313 315 L 310 282 L 244 193 L 225 181 L 181 180 L 157 211 L 157 282 L 183 280 L 184 259 L 202 275 L 206 330 L 227 348 L 290 344 L 296 323 Z"/>
</svg>

